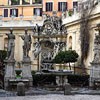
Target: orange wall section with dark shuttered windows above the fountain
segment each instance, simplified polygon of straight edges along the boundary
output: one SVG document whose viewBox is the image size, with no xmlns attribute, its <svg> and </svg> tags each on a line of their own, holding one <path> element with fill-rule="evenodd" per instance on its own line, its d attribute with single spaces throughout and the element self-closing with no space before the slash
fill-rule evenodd
<svg viewBox="0 0 100 100">
<path fill-rule="evenodd" d="M 53 11 L 61 16 L 63 12 L 73 11 L 78 6 L 78 0 L 43 0 L 43 13 L 52 15 Z"/>
</svg>

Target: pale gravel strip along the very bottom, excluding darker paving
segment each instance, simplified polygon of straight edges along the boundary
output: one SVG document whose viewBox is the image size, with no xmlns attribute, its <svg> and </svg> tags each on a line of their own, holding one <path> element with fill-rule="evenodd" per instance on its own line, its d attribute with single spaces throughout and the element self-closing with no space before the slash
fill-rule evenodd
<svg viewBox="0 0 100 100">
<path fill-rule="evenodd" d="M 37 95 L 23 97 L 0 97 L 0 100 L 100 100 L 100 95 Z"/>
</svg>

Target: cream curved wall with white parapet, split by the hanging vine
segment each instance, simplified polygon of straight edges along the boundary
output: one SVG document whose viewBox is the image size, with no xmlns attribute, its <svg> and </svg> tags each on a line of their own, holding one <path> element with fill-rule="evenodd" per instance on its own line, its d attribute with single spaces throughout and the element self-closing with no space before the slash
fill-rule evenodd
<svg viewBox="0 0 100 100">
<path fill-rule="evenodd" d="M 90 74 L 91 62 L 94 59 L 94 39 L 95 35 L 98 31 L 95 30 L 97 24 L 100 23 L 100 2 L 92 9 L 91 17 L 89 18 L 89 32 L 90 32 L 90 40 L 89 40 L 89 52 L 87 59 L 84 60 L 85 67 L 87 72 Z M 81 37 L 80 37 L 80 27 L 81 27 L 81 12 L 75 13 L 71 17 L 68 16 L 63 19 L 63 24 L 66 26 L 66 30 L 68 33 L 67 36 L 67 49 L 76 50 L 76 52 L 80 55 L 79 61 L 76 66 L 80 67 L 81 63 Z"/>
</svg>

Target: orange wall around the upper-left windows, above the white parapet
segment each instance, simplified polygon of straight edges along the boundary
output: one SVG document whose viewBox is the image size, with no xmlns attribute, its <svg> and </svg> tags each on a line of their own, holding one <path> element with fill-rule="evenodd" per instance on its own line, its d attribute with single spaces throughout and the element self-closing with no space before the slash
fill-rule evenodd
<svg viewBox="0 0 100 100">
<path fill-rule="evenodd" d="M 42 8 L 42 6 L 0 6 L 0 15 L 4 15 L 4 9 L 8 9 L 8 17 L 5 17 L 4 20 L 10 20 L 10 9 L 12 8 L 16 8 L 18 9 L 18 17 L 20 17 L 20 15 L 24 16 L 24 20 L 32 20 L 33 16 L 34 16 L 34 8 Z M 16 17 L 16 19 L 18 19 Z M 41 19 L 41 18 L 40 18 Z"/>
</svg>

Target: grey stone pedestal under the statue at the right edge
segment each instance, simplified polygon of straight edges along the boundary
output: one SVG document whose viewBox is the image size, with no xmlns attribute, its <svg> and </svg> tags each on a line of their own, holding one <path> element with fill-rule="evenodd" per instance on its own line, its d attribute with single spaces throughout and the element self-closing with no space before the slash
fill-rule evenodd
<svg viewBox="0 0 100 100">
<path fill-rule="evenodd" d="M 90 87 L 94 86 L 94 82 L 100 82 L 100 63 L 91 63 L 90 69 Z"/>
</svg>

